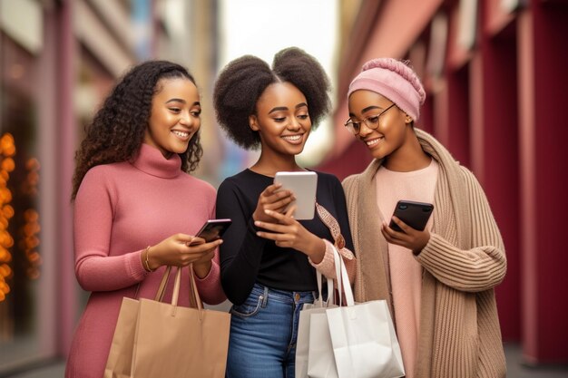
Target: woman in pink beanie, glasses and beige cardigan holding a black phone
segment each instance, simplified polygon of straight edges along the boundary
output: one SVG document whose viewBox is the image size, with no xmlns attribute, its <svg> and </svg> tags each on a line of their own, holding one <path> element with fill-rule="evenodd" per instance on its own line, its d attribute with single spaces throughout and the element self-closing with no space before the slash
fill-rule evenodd
<svg viewBox="0 0 568 378">
<path fill-rule="evenodd" d="M 503 240 L 473 173 L 415 128 L 425 98 L 416 73 L 390 58 L 365 63 L 349 85 L 345 126 L 374 158 L 343 182 L 356 300 L 387 300 L 406 377 L 504 377 Z M 402 199 L 434 205 L 424 230 L 398 218 L 402 231 L 389 227 Z"/>
</svg>

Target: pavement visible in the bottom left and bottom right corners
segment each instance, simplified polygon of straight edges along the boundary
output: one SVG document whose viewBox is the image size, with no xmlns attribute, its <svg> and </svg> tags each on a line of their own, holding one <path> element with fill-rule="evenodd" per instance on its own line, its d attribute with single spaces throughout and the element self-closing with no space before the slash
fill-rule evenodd
<svg viewBox="0 0 568 378">
<path fill-rule="evenodd" d="M 568 377 L 568 364 L 563 366 L 525 366 L 522 361 L 521 347 L 518 344 L 505 344 L 504 353 L 507 359 L 508 378 L 566 378 Z M 12 375 L 10 378 L 63 378 L 64 363 L 34 370 L 33 372 Z M 269 377 L 267 377 L 269 378 Z"/>
</svg>

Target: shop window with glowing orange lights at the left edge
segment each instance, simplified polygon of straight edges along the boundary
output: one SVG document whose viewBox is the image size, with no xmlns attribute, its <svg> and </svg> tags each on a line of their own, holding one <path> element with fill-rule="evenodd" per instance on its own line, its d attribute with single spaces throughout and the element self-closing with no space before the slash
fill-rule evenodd
<svg viewBox="0 0 568 378">
<path fill-rule="evenodd" d="M 34 56 L 0 33 L 0 373 L 41 349 Z"/>
</svg>

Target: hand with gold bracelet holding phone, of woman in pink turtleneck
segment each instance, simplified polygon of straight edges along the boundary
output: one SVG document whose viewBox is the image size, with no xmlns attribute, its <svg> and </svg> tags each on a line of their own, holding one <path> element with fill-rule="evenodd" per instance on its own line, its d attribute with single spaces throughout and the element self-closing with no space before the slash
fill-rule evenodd
<svg viewBox="0 0 568 378">
<path fill-rule="evenodd" d="M 186 267 L 194 262 L 203 263 L 204 260 L 213 258 L 215 248 L 219 247 L 222 242 L 221 239 L 217 239 L 203 243 L 201 237 L 175 234 L 143 252 L 142 263 L 146 254 L 148 254 L 148 267 L 152 270 L 163 265 Z"/>
</svg>

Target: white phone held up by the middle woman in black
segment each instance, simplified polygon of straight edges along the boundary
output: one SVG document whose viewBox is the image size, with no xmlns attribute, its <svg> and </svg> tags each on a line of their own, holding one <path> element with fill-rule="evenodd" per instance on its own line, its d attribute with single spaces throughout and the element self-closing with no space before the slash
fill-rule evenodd
<svg viewBox="0 0 568 378">
<path fill-rule="evenodd" d="M 318 189 L 318 174 L 316 172 L 276 172 L 274 183 L 280 183 L 282 184 L 281 189 L 287 189 L 294 193 L 296 199 L 289 206 L 296 205 L 295 219 L 314 218 L 316 189 Z"/>
</svg>

